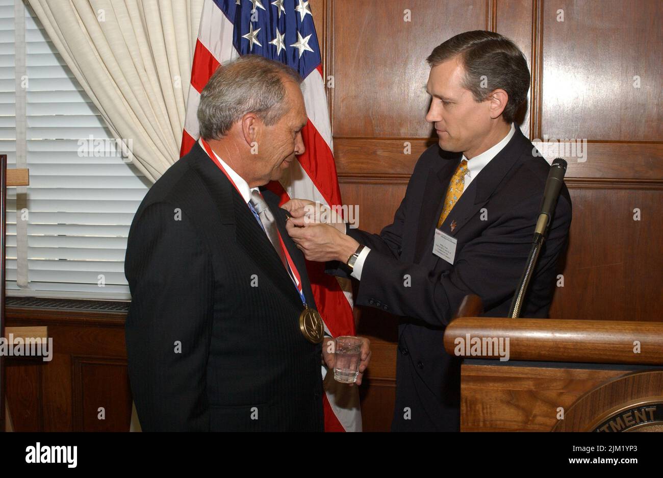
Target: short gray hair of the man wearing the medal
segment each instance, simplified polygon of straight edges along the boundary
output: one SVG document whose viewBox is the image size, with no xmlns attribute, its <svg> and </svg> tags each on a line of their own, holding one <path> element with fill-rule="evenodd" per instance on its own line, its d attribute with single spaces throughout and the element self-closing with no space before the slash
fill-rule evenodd
<svg viewBox="0 0 663 478">
<path fill-rule="evenodd" d="M 273 125 L 286 113 L 284 80 L 302 83 L 298 72 L 264 56 L 245 55 L 223 63 L 200 93 L 200 136 L 220 139 L 247 113 Z"/>
</svg>

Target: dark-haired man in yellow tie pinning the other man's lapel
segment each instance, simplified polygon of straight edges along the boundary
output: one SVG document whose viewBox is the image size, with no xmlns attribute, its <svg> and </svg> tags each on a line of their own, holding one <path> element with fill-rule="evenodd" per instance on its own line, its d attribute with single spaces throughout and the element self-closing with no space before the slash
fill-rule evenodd
<svg viewBox="0 0 663 478">
<path fill-rule="evenodd" d="M 310 202 L 283 206 L 306 259 L 339 261 L 331 272 L 360 280 L 356 304 L 403 317 L 392 430 L 404 431 L 459 429 L 459 359 L 444 351 L 444 328 L 466 294 L 487 316 L 507 316 L 549 170 L 514 124 L 530 75 L 511 40 L 465 32 L 428 62 L 438 145 L 419 158 L 391 225 L 370 234 L 320 223 Z M 570 222 L 564 186 L 522 316 L 547 316 Z"/>
</svg>

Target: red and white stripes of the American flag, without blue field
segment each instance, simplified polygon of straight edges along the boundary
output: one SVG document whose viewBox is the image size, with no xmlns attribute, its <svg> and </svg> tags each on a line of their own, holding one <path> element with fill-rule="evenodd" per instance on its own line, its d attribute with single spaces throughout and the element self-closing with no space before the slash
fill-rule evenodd
<svg viewBox="0 0 663 478">
<path fill-rule="evenodd" d="M 239 56 L 233 46 L 232 33 L 232 23 L 213 1 L 206 0 L 194 52 L 180 157 L 189 152 L 200 136 L 196 115 L 200 92 L 219 64 Z M 298 156 L 297 161 L 292 162 L 280 182 L 272 182 L 268 188 L 280 196 L 281 204 L 290 198 L 304 198 L 327 206 L 342 204 L 333 160 L 331 126 L 322 66 L 319 65 L 304 78 L 302 93 L 308 113 L 308 123 L 302 130 L 306 152 Z M 325 274 L 324 264 L 307 261 L 306 269 L 325 329 L 333 337 L 354 335 L 353 302 L 349 281 Z M 326 371 L 327 369 L 323 367 L 322 374 L 325 375 Z M 361 431 L 358 388 L 327 380 L 325 390 L 325 430 Z"/>
</svg>

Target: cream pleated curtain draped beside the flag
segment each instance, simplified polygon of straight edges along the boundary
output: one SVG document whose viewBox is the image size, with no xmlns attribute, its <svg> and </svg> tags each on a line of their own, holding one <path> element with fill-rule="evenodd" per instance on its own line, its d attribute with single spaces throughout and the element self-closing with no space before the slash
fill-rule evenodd
<svg viewBox="0 0 663 478">
<path fill-rule="evenodd" d="M 204 0 L 27 0 L 133 163 L 152 182 L 180 155 Z"/>
</svg>

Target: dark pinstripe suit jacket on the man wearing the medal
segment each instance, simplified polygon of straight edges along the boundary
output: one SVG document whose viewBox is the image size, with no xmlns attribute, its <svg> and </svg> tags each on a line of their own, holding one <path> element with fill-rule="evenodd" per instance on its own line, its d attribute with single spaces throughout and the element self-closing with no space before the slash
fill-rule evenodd
<svg viewBox="0 0 663 478">
<path fill-rule="evenodd" d="M 263 192 L 314 306 L 278 198 Z M 323 430 L 321 346 L 251 210 L 196 143 L 129 231 L 129 379 L 143 430 Z"/>
</svg>

